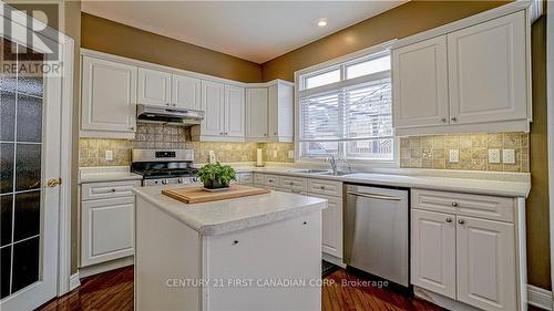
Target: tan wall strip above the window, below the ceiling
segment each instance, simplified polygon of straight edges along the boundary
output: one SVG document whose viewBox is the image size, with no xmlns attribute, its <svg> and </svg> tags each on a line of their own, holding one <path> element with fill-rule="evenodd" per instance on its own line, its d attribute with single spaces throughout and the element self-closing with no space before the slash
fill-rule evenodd
<svg viewBox="0 0 554 311">
<path fill-rule="evenodd" d="M 294 81 L 294 73 L 392 39 L 473 15 L 503 1 L 411 1 L 263 64 L 263 80 Z"/>
</svg>

